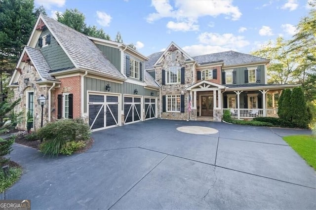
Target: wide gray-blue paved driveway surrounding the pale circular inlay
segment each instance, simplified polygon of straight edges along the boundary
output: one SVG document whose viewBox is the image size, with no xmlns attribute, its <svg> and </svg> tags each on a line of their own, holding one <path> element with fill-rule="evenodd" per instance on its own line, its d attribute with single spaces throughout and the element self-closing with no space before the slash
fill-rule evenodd
<svg viewBox="0 0 316 210">
<path fill-rule="evenodd" d="M 32 209 L 316 209 L 316 173 L 281 138 L 310 133 L 155 119 L 94 132 L 70 157 L 15 144 L 24 175 L 0 198 Z"/>
</svg>

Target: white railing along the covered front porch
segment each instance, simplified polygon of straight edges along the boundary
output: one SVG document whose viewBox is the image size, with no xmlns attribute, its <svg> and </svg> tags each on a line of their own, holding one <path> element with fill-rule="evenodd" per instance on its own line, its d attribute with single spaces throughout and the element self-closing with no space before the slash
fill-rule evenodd
<svg viewBox="0 0 316 210">
<path fill-rule="evenodd" d="M 278 117 L 277 108 L 223 108 L 229 110 L 234 118 Z"/>
</svg>

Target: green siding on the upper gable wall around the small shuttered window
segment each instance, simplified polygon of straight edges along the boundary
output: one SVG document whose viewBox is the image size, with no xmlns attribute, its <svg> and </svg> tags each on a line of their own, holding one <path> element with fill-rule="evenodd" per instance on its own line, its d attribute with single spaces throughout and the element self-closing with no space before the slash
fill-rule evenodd
<svg viewBox="0 0 316 210">
<path fill-rule="evenodd" d="M 52 70 L 75 68 L 73 62 L 71 62 L 63 48 L 61 48 L 47 28 L 41 32 L 40 37 L 43 37 L 47 34 L 50 34 L 50 44 L 45 47 L 39 47 L 39 41 L 37 41 L 36 48 L 40 49 L 50 68 Z"/>
</svg>

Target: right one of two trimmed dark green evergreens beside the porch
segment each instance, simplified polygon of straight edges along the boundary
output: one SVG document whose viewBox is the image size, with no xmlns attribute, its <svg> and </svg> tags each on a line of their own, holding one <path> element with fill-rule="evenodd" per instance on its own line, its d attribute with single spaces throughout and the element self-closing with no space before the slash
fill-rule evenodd
<svg viewBox="0 0 316 210">
<path fill-rule="evenodd" d="M 299 128 L 308 128 L 310 117 L 304 92 L 301 87 L 293 88 L 290 105 L 290 112 L 293 124 L 295 124 Z"/>
</svg>

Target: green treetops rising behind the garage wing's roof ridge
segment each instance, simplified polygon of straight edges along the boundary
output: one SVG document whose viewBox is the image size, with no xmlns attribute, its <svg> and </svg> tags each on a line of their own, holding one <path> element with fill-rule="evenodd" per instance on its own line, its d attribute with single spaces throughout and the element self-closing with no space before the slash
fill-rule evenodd
<svg viewBox="0 0 316 210">
<path fill-rule="evenodd" d="M 87 26 L 85 24 L 85 16 L 78 9 L 66 9 L 66 11 L 61 14 L 57 12 L 57 20 L 70 28 L 75 29 L 76 31 L 93 36 L 96 38 L 102 38 L 110 40 L 110 36 L 105 34 L 103 29 L 97 29 L 96 26 Z"/>
</svg>

